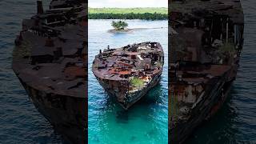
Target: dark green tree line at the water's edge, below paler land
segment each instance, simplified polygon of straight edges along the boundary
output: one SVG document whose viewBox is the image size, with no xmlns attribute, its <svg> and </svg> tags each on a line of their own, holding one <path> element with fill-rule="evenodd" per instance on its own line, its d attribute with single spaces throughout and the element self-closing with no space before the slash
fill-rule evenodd
<svg viewBox="0 0 256 144">
<path fill-rule="evenodd" d="M 144 20 L 166 20 L 168 19 L 168 14 L 158 14 L 158 13 L 144 13 L 144 14 L 113 14 L 113 13 L 97 13 L 89 14 L 89 19 L 144 19 Z"/>
</svg>

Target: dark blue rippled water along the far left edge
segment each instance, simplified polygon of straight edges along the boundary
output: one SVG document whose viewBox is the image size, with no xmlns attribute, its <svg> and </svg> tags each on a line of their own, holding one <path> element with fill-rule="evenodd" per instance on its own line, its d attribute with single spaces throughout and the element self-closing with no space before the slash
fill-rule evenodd
<svg viewBox="0 0 256 144">
<path fill-rule="evenodd" d="M 22 18 L 35 12 L 34 0 L 0 0 L 0 143 L 62 143 L 11 69 L 14 38 Z"/>
</svg>

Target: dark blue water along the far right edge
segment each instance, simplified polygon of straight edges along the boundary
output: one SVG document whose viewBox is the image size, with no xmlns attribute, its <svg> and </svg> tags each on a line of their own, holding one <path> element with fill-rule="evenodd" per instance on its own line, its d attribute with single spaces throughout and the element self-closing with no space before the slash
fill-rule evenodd
<svg viewBox="0 0 256 144">
<path fill-rule="evenodd" d="M 256 143 L 256 1 L 242 0 L 245 34 L 237 79 L 218 114 L 186 143 Z"/>
</svg>

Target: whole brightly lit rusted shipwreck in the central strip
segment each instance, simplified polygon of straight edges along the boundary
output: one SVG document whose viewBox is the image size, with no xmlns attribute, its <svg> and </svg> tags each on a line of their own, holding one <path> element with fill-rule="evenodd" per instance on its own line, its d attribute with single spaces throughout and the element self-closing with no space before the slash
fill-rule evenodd
<svg viewBox="0 0 256 144">
<path fill-rule="evenodd" d="M 160 43 L 142 42 L 100 50 L 92 70 L 106 92 L 127 110 L 158 84 L 163 63 Z"/>
</svg>

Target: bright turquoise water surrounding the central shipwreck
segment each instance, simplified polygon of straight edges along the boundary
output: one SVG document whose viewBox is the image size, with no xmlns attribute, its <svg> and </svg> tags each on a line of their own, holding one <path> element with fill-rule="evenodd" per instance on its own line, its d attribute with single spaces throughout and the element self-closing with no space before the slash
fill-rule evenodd
<svg viewBox="0 0 256 144">
<path fill-rule="evenodd" d="M 89 143 L 167 143 L 168 89 L 167 89 L 167 21 L 127 21 L 130 28 L 159 28 L 137 30 L 132 33 L 110 34 L 110 20 L 89 20 L 89 75 L 88 75 L 88 138 Z M 163 27 L 163 28 L 161 28 Z M 134 42 L 160 42 L 165 51 L 162 80 L 142 100 L 128 111 L 109 97 L 91 71 L 94 56 L 99 49 L 121 47 Z"/>
</svg>

